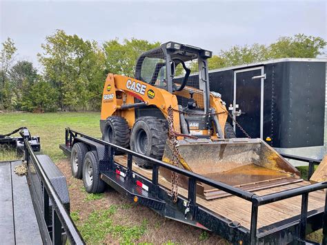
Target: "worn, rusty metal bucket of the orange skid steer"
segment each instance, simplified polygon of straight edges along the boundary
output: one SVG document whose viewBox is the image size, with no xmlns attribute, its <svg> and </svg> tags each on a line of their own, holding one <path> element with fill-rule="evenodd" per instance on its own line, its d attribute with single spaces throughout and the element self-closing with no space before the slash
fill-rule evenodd
<svg viewBox="0 0 327 245">
<path fill-rule="evenodd" d="M 244 190 L 259 190 L 300 182 L 299 171 L 261 139 L 183 139 L 177 144 L 179 167 Z M 167 141 L 163 161 L 172 164 L 172 145 Z M 160 169 L 170 181 L 171 171 Z M 179 186 L 188 178 L 179 175 Z M 206 199 L 228 195 L 197 183 L 197 194 Z"/>
</svg>

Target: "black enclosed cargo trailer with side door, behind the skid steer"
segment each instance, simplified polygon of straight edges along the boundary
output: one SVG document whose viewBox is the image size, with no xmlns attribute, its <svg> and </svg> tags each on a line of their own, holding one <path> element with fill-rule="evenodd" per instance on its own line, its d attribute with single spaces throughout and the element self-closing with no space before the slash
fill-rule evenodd
<svg viewBox="0 0 327 245">
<path fill-rule="evenodd" d="M 322 159 L 327 140 L 326 62 L 275 59 L 210 70 L 210 90 L 222 95 L 251 137 L 264 139 L 279 153 Z M 235 130 L 237 137 L 244 137 Z"/>
</svg>

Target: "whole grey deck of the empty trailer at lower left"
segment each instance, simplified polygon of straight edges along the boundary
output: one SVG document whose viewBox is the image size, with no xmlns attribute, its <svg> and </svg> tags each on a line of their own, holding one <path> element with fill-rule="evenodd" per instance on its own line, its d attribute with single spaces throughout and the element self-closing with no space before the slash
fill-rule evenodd
<svg viewBox="0 0 327 245">
<path fill-rule="evenodd" d="M 22 161 L 0 162 L 1 244 L 42 244 L 26 176 L 14 173 Z"/>
</svg>

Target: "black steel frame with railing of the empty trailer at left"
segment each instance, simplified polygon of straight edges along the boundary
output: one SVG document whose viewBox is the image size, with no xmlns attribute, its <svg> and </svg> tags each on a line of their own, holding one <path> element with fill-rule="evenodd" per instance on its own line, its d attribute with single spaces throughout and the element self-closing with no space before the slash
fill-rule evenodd
<svg viewBox="0 0 327 245">
<path fill-rule="evenodd" d="M 27 129 L 26 129 L 27 130 Z M 37 145 L 39 150 L 39 145 Z M 65 207 L 57 193 L 56 188 L 52 185 L 46 170 L 43 169 L 37 155 L 35 155 L 34 144 L 28 138 L 23 139 L 24 160 L 28 166 L 28 183 L 30 195 L 37 215 L 37 222 L 43 244 L 63 244 L 66 235 L 71 244 L 85 244 L 79 231 L 69 215 L 69 207 Z M 30 168 L 35 170 L 37 179 L 30 177 Z M 37 201 L 38 196 L 35 193 L 34 182 L 41 184 L 43 199 L 40 206 Z M 68 210 L 66 209 L 68 208 Z M 65 242 L 66 243 L 66 242 Z"/>
</svg>

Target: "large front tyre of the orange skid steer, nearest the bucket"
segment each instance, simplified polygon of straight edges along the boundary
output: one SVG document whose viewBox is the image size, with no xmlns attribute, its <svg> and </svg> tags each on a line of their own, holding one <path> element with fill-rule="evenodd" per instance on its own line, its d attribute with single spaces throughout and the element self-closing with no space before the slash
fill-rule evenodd
<svg viewBox="0 0 327 245">
<path fill-rule="evenodd" d="M 162 159 L 168 138 L 167 121 L 157 117 L 140 117 L 130 133 L 130 149 L 152 157 Z M 135 157 L 135 163 L 143 168 L 152 168 L 150 161 Z"/>
</svg>

